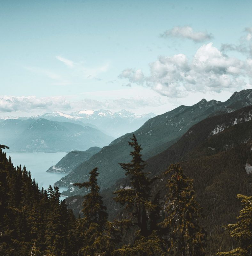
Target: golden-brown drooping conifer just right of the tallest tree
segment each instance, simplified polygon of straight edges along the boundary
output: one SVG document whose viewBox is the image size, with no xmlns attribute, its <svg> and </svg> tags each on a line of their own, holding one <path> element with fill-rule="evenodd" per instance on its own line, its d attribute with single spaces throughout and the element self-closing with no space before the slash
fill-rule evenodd
<svg viewBox="0 0 252 256">
<path fill-rule="evenodd" d="M 166 217 L 161 226 L 170 229 L 169 255 L 204 255 L 206 233 L 199 225 L 203 216 L 199 204 L 194 198 L 193 180 L 183 174 L 182 168 L 171 164 L 165 175 L 170 175 L 166 187 Z"/>
</svg>

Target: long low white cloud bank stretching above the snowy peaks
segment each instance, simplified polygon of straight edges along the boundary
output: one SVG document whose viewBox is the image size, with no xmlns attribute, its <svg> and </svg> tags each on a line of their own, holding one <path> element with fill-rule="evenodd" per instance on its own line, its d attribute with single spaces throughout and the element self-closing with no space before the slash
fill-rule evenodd
<svg viewBox="0 0 252 256">
<path fill-rule="evenodd" d="M 35 96 L 17 97 L 17 96 L 0 96 L 0 112 L 37 112 L 45 113 L 50 111 L 77 111 L 83 109 L 138 109 L 139 107 L 157 107 L 166 104 L 167 101 L 161 99 L 160 96 L 142 97 L 136 95 L 130 98 L 117 98 L 109 100 L 93 100 L 83 99 L 74 100 L 71 102 L 65 97 L 46 97 L 37 98 Z"/>
</svg>

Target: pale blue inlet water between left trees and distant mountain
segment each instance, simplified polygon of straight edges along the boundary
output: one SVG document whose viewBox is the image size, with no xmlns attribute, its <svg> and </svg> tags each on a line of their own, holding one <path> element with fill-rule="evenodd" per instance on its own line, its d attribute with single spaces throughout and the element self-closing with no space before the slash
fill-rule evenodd
<svg viewBox="0 0 252 256">
<path fill-rule="evenodd" d="M 16 167 L 17 165 L 26 166 L 26 169 L 31 172 L 32 179 L 38 182 L 38 186 L 41 189 L 47 189 L 49 185 L 53 187 L 54 182 L 60 180 L 66 174 L 64 173 L 54 173 L 46 172 L 49 167 L 55 165 L 59 160 L 66 156 L 67 153 L 18 153 L 18 152 L 8 152 L 5 150 L 7 158 L 11 156 L 12 163 Z M 60 187 L 59 192 L 66 190 L 66 187 Z M 60 197 L 63 200 L 65 197 Z"/>
</svg>

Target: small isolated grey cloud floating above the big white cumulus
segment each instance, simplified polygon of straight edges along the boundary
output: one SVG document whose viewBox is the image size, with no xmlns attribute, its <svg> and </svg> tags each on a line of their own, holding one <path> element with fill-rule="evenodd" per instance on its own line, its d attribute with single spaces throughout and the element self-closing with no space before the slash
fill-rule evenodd
<svg viewBox="0 0 252 256">
<path fill-rule="evenodd" d="M 196 32 L 192 27 L 176 26 L 172 29 L 166 30 L 161 37 L 178 37 L 183 39 L 193 40 L 195 43 L 204 42 L 213 38 L 212 34 L 207 32 Z"/>
</svg>

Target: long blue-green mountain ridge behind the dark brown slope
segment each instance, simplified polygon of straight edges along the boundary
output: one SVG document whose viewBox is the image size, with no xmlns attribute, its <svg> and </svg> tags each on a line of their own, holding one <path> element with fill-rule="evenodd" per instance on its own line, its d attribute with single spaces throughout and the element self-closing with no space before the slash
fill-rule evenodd
<svg viewBox="0 0 252 256">
<path fill-rule="evenodd" d="M 215 100 L 206 101 L 201 100 L 199 103 L 186 107 L 180 106 L 174 110 L 163 115 L 156 116 L 148 120 L 141 128 L 135 131 L 139 143 L 142 145 L 143 157 L 148 159 L 155 156 L 165 149 L 169 148 L 176 142 L 190 127 L 197 124 L 206 117 L 214 113 L 232 112 L 237 107 L 235 99 L 239 101 L 240 106 L 247 106 L 252 104 L 252 90 L 243 90 L 235 92 L 232 97 L 225 101 L 219 102 Z M 238 108 L 238 107 L 237 107 Z M 127 141 L 132 134 L 125 134 L 124 136 L 114 140 L 107 147 L 92 156 L 88 161 L 79 165 L 70 174 L 56 182 L 56 185 L 69 184 L 73 182 L 83 182 L 86 180 L 88 172 L 94 167 L 99 167 L 99 184 L 101 188 L 107 188 L 114 184 L 114 182 L 123 177 L 122 170 L 118 167 L 120 162 L 128 162 L 130 160 Z M 64 192 L 65 195 L 75 194 L 72 186 Z M 71 194 L 70 194 L 71 191 Z M 80 192 L 78 192 L 80 193 Z"/>
</svg>

